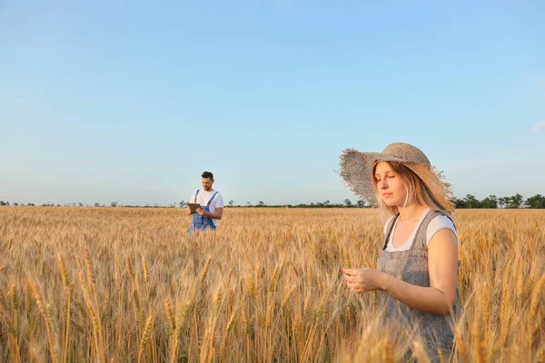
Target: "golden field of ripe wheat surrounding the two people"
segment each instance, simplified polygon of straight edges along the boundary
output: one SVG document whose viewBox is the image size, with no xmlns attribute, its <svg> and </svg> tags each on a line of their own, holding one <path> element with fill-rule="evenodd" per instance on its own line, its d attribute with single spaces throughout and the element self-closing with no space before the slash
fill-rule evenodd
<svg viewBox="0 0 545 363">
<path fill-rule="evenodd" d="M 545 361 L 545 212 L 457 211 L 457 361 Z M 0 208 L 0 361 L 401 361 L 381 327 L 376 210 Z"/>
</svg>

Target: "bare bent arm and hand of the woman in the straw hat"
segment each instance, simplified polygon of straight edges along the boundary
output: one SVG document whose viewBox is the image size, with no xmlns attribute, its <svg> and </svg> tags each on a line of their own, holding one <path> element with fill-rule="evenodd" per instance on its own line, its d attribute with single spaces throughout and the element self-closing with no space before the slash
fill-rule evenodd
<svg viewBox="0 0 545 363">
<path fill-rule="evenodd" d="M 412 285 L 372 269 L 342 270 L 349 288 L 356 292 L 382 289 L 412 309 L 448 315 L 456 297 L 458 240 L 449 229 L 435 233 L 428 245 L 430 287 Z"/>
</svg>

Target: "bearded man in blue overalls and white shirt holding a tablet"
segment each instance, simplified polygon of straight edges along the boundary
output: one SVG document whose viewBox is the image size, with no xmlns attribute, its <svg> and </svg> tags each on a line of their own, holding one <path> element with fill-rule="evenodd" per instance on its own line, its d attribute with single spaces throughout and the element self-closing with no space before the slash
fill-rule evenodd
<svg viewBox="0 0 545 363">
<path fill-rule="evenodd" d="M 218 191 L 214 191 L 213 186 L 213 173 L 203 172 L 202 183 L 203 190 L 193 191 L 191 199 L 192 203 L 201 204 L 201 208 L 197 209 L 196 213 L 193 213 L 193 221 L 191 222 L 191 228 L 189 234 L 194 230 L 213 230 L 215 231 L 219 221 L 223 216 L 223 197 Z M 191 215 L 192 212 L 187 207 L 187 215 Z"/>
</svg>

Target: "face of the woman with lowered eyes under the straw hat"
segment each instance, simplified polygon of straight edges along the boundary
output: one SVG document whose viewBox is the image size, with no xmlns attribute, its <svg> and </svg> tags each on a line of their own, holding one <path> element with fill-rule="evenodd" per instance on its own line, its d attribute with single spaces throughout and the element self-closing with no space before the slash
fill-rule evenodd
<svg viewBox="0 0 545 363">
<path fill-rule="evenodd" d="M 388 162 L 379 162 L 375 168 L 374 180 L 381 201 L 389 207 L 402 206 L 407 197 L 407 188 L 401 177 L 393 171 Z"/>
</svg>

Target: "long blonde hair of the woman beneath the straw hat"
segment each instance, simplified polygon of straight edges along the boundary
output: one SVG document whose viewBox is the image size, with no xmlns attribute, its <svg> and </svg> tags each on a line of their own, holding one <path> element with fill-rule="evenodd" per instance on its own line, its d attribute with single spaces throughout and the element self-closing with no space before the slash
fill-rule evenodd
<svg viewBox="0 0 545 363">
<path fill-rule="evenodd" d="M 446 215 L 450 216 L 449 212 L 441 207 L 441 204 L 439 204 L 433 199 L 433 197 L 431 197 L 431 194 L 428 191 L 426 184 L 422 182 L 421 178 L 415 172 L 412 172 L 411 169 L 403 165 L 401 162 L 386 163 L 391 166 L 393 172 L 398 174 L 398 176 L 401 178 L 401 182 L 403 182 L 403 185 L 407 190 L 407 195 L 405 197 L 405 202 L 403 206 L 406 206 L 410 203 L 416 203 L 423 207 L 428 207 L 432 211 L 441 211 Z M 377 188 L 377 182 L 374 176 L 378 164 L 379 162 L 374 162 L 372 164 L 372 185 L 377 195 L 377 200 L 381 202 L 381 210 L 388 211 L 388 213 L 390 213 L 391 215 L 395 215 L 399 213 L 398 206 L 393 205 L 390 207 L 381 200 L 381 194 L 379 193 L 379 190 Z"/>
</svg>

